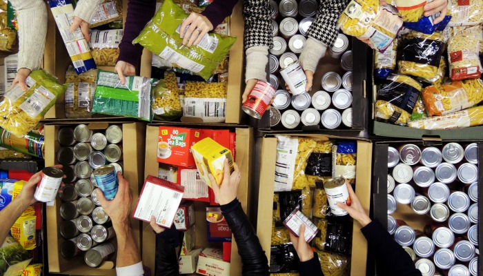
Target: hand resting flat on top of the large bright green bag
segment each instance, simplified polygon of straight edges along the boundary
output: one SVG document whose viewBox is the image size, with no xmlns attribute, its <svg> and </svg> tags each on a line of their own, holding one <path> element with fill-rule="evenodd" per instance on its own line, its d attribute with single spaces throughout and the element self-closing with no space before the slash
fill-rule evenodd
<svg viewBox="0 0 483 276">
<path fill-rule="evenodd" d="M 203 39 L 204 35 L 210 30 L 213 30 L 213 24 L 204 15 L 191 12 L 191 14 L 184 19 L 179 28 L 179 37 L 183 39 L 183 45 L 188 43 L 188 47 L 198 45 L 199 41 Z"/>
</svg>

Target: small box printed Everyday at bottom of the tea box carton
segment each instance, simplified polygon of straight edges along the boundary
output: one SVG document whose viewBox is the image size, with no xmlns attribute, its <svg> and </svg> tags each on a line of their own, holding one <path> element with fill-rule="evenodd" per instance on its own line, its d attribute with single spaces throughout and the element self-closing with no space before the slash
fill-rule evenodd
<svg viewBox="0 0 483 276">
<path fill-rule="evenodd" d="M 223 250 L 206 248 L 199 255 L 196 272 L 209 276 L 229 276 L 230 263 L 223 262 Z"/>
</svg>

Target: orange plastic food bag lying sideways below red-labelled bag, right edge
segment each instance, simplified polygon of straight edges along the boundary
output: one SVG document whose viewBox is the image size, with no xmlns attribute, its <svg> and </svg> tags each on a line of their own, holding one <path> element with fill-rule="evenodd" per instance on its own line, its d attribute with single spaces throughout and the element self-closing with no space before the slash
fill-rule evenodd
<svg viewBox="0 0 483 276">
<path fill-rule="evenodd" d="M 428 115 L 440 116 L 471 108 L 483 101 L 483 81 L 466 79 L 442 86 L 428 86 L 422 91 Z"/>
</svg>

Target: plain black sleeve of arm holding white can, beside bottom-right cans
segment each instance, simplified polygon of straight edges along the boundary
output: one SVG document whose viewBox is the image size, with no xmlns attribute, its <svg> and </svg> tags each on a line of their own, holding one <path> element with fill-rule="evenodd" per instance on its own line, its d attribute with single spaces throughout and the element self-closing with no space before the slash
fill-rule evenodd
<svg viewBox="0 0 483 276">
<path fill-rule="evenodd" d="M 422 276 L 406 250 L 375 219 L 361 229 L 375 253 L 377 275 Z"/>
</svg>

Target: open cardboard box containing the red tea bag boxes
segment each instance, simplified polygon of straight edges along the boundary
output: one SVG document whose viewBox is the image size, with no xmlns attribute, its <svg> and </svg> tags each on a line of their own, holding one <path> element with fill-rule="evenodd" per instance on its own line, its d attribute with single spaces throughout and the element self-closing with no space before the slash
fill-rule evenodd
<svg viewBox="0 0 483 276">
<path fill-rule="evenodd" d="M 186 127 L 186 126 L 185 126 Z M 190 127 L 190 126 L 188 126 Z M 199 128 L 199 126 L 193 126 L 193 128 Z M 201 127 L 207 128 L 207 127 Z M 215 127 L 220 128 L 220 126 Z M 227 128 L 227 126 L 221 127 Z M 231 128 L 233 131 L 233 127 Z M 251 164 L 253 160 L 253 129 L 252 128 L 235 128 L 237 135 L 236 144 L 236 160 L 240 170 L 242 171 L 242 179 L 238 186 L 237 198 L 242 203 L 242 208 L 246 214 L 250 212 L 250 195 L 251 195 Z M 144 175 L 157 176 L 159 163 L 157 162 L 157 144 L 159 137 L 159 125 L 148 125 L 146 130 L 146 166 Z M 209 244 L 206 234 L 206 207 L 208 203 L 195 202 L 195 232 L 196 232 L 196 244 L 195 248 L 207 248 L 208 246 L 217 246 L 221 248 L 221 243 Z M 271 210 L 271 209 L 270 209 Z M 231 248 L 231 265 L 230 275 L 242 275 L 242 261 L 238 255 L 238 248 L 235 239 L 232 239 L 233 244 Z M 142 224 L 142 258 L 144 266 L 147 266 L 151 270 L 151 275 L 155 273 L 155 245 L 156 236 L 151 226 L 148 223 Z"/>
</svg>

